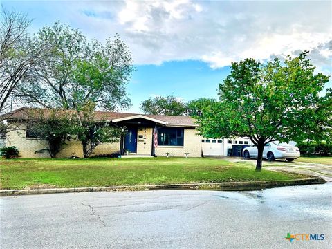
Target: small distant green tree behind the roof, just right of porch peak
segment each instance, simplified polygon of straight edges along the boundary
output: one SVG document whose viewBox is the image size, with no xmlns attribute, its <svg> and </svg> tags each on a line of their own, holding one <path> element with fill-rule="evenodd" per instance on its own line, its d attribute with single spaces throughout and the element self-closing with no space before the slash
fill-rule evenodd
<svg viewBox="0 0 332 249">
<path fill-rule="evenodd" d="M 185 102 L 174 97 L 174 95 L 168 95 L 167 97 L 158 96 L 156 98 L 149 98 L 142 101 L 140 109 L 145 114 L 151 115 L 171 115 L 171 116 L 183 116 L 187 112 Z"/>
</svg>

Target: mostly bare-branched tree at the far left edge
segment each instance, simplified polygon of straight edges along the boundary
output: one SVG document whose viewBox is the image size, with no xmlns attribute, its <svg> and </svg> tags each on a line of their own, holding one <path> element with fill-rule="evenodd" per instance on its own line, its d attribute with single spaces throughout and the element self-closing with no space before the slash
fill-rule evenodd
<svg viewBox="0 0 332 249">
<path fill-rule="evenodd" d="M 17 84 L 33 77 L 48 46 L 30 46 L 26 29 L 31 21 L 21 12 L 0 10 L 0 113 L 8 111 Z"/>
</svg>

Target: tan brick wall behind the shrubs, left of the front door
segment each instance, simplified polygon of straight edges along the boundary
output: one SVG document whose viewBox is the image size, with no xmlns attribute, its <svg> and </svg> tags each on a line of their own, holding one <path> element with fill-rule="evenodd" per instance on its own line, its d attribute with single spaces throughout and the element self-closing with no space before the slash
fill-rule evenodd
<svg viewBox="0 0 332 249">
<path fill-rule="evenodd" d="M 46 142 L 39 138 L 26 138 L 26 125 L 20 124 L 19 127 L 15 127 L 16 129 L 10 129 L 14 127 L 10 126 L 7 133 L 6 138 L 6 146 L 16 146 L 19 149 L 19 155 L 22 158 L 47 158 L 50 157 L 48 151 L 48 145 Z M 17 129 L 18 128 L 18 129 Z M 118 152 L 120 149 L 120 142 L 108 143 L 105 142 L 101 145 L 98 145 L 93 154 L 101 155 L 101 154 L 112 154 Z M 38 153 L 36 151 L 41 151 Z M 57 158 L 68 158 L 71 156 L 78 156 L 80 158 L 83 157 L 82 145 L 80 141 L 71 140 L 66 141 L 65 145 L 62 145 L 62 149 L 57 154 Z"/>
</svg>

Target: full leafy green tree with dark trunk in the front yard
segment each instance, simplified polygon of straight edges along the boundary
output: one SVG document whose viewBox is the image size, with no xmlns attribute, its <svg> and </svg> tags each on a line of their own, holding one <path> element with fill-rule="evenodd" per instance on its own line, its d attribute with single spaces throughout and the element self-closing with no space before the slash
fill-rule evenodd
<svg viewBox="0 0 332 249">
<path fill-rule="evenodd" d="M 282 63 L 262 65 L 254 59 L 232 63 L 219 85 L 220 101 L 199 117 L 201 134 L 208 138 L 249 137 L 258 149 L 261 170 L 264 145 L 279 140 L 305 140 L 317 127 L 331 122 L 331 89 L 320 97 L 329 76 L 315 74 L 308 51 Z M 329 120 L 330 118 L 330 120 Z"/>
</svg>

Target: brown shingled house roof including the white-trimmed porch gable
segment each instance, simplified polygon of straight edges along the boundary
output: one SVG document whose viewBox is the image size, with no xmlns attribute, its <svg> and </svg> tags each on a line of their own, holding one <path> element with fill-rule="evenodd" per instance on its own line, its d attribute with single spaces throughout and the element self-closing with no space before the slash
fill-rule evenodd
<svg viewBox="0 0 332 249">
<path fill-rule="evenodd" d="M 2 116 L 3 119 L 7 120 L 28 120 L 32 119 L 34 113 L 38 114 L 40 111 L 46 113 L 48 109 L 37 109 L 37 108 L 28 108 L 22 107 L 15 111 L 10 111 Z M 64 110 L 68 111 L 68 110 Z M 73 112 L 73 111 L 71 111 Z M 198 127 L 198 124 L 195 124 L 195 120 L 189 116 L 162 116 L 162 115 L 145 115 L 138 113 L 120 113 L 113 111 L 95 111 L 95 120 L 109 120 L 111 122 L 122 122 L 126 120 L 133 120 L 136 118 L 143 118 L 165 126 L 175 126 L 175 127 Z"/>
</svg>

